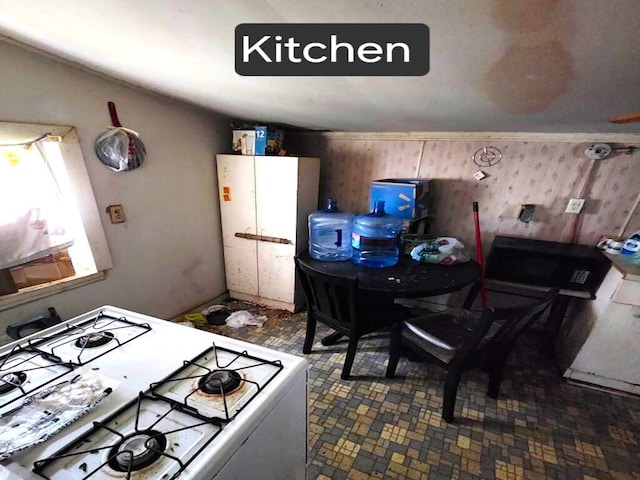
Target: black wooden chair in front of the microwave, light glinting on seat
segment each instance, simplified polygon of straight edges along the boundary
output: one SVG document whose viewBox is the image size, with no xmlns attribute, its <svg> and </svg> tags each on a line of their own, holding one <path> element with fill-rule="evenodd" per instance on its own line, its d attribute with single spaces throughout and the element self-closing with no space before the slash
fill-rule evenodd
<svg viewBox="0 0 640 480">
<path fill-rule="evenodd" d="M 458 383 L 463 371 L 489 371 L 487 395 L 497 398 L 507 358 L 518 336 L 551 305 L 558 291 L 528 305 L 486 309 L 480 315 L 468 310 L 443 312 L 402 322 L 391 334 L 387 377 L 395 376 L 403 347 L 447 371 L 442 418 L 453 421 Z"/>
</svg>

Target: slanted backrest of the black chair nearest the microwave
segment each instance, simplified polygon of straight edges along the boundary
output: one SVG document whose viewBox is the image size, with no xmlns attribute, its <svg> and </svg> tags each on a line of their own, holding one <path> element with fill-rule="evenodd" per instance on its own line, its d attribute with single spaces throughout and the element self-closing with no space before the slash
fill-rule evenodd
<svg viewBox="0 0 640 480">
<path fill-rule="evenodd" d="M 558 290 L 554 289 L 526 305 L 494 309 L 493 323 L 478 350 L 488 356 L 508 354 L 520 334 L 540 318 L 557 296 Z"/>
</svg>

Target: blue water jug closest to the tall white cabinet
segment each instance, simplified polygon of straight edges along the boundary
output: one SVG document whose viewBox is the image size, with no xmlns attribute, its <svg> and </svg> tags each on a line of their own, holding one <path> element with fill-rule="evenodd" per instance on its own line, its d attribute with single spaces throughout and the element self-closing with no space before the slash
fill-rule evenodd
<svg viewBox="0 0 640 480">
<path fill-rule="evenodd" d="M 342 262 L 351 258 L 353 213 L 338 210 L 335 198 L 327 208 L 309 215 L 309 255 L 324 262 Z"/>
</svg>

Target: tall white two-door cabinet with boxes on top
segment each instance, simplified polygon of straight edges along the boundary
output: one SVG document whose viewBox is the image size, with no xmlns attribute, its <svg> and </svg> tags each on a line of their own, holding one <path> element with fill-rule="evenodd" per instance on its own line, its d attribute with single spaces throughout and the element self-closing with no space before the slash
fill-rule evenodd
<svg viewBox="0 0 640 480">
<path fill-rule="evenodd" d="M 293 257 L 308 247 L 320 160 L 217 155 L 227 288 L 232 298 L 297 310 Z"/>
</svg>

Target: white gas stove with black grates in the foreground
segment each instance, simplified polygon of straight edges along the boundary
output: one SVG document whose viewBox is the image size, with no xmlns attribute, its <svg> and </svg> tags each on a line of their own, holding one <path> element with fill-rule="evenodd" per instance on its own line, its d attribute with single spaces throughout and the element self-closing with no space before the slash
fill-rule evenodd
<svg viewBox="0 0 640 480">
<path fill-rule="evenodd" d="M 0 413 L 82 369 L 120 384 L 4 467 L 51 480 L 305 478 L 300 357 L 105 306 L 0 348 Z"/>
</svg>

